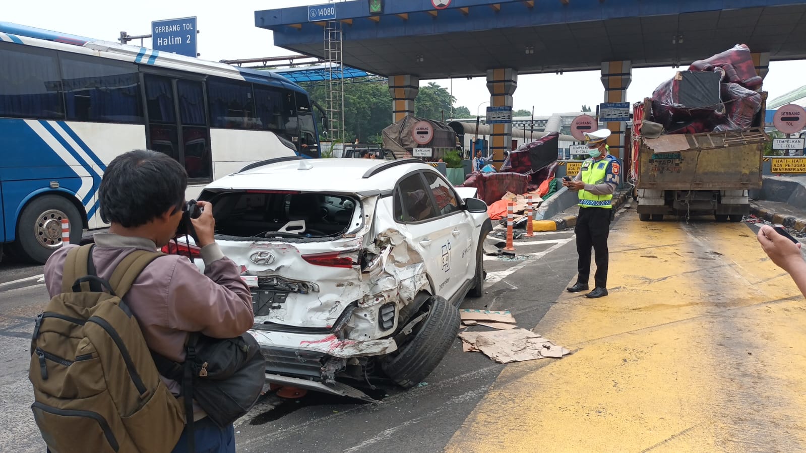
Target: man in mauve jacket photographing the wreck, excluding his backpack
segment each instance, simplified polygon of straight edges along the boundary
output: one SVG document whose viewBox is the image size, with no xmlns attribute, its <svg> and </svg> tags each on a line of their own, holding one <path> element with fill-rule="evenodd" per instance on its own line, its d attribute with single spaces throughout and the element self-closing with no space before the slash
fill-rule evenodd
<svg viewBox="0 0 806 453">
<path fill-rule="evenodd" d="M 160 152 L 137 150 L 116 157 L 106 168 L 100 187 L 101 216 L 108 233 L 94 235 L 92 262 L 97 275 L 109 280 L 118 263 L 132 251 L 155 251 L 176 234 L 183 208 L 187 173 L 176 160 Z M 185 256 L 160 256 L 139 273 L 123 297 L 137 319 L 152 351 L 177 362 L 185 360 L 189 332 L 209 337 L 236 337 L 253 323 L 251 293 L 239 268 L 224 257 L 214 240 L 212 205 L 198 202 L 202 214 L 191 220 L 202 248 L 204 274 Z M 61 293 L 65 257 L 75 245 L 65 245 L 45 264 L 44 278 L 51 297 Z M 160 376 L 174 395 L 180 385 Z M 221 429 L 193 401 L 195 444 L 203 451 L 235 452 L 233 426 Z M 186 451 L 187 428 L 164 451 Z"/>
</svg>

